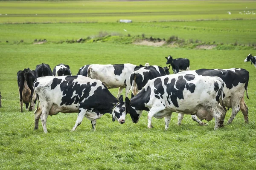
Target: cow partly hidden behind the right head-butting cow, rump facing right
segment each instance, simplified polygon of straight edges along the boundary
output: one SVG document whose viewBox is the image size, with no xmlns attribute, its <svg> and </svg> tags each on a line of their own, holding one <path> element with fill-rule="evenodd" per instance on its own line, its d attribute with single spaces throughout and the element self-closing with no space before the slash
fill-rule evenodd
<svg viewBox="0 0 256 170">
<path fill-rule="evenodd" d="M 241 110 L 244 115 L 244 122 L 248 123 L 248 107 L 244 102 L 244 91 L 249 99 L 247 93 L 247 86 L 249 82 L 249 72 L 243 68 L 230 68 L 230 69 L 199 69 L 193 71 L 182 71 L 179 74 L 193 74 L 196 76 L 217 76 L 224 81 L 224 105 L 229 109 L 232 108 L 232 114 L 227 124 L 230 124 L 235 118 L 236 114 Z M 226 113 L 223 113 L 224 117 Z M 183 115 L 178 115 L 178 125 L 180 125 Z M 196 116 L 192 119 L 203 125 Z"/>
</svg>

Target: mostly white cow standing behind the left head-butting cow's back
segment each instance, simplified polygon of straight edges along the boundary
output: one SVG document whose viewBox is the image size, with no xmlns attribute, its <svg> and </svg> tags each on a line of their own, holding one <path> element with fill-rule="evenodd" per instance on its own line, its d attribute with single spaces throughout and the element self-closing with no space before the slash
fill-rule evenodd
<svg viewBox="0 0 256 170">
<path fill-rule="evenodd" d="M 125 88 L 125 96 L 127 97 L 131 88 L 130 75 L 134 72 L 134 69 L 139 67 L 129 63 L 114 65 L 91 64 L 81 67 L 78 74 L 98 79 L 107 88 L 119 88 L 117 98 L 122 94 L 123 88 Z"/>
</svg>

